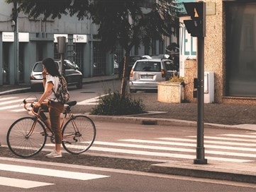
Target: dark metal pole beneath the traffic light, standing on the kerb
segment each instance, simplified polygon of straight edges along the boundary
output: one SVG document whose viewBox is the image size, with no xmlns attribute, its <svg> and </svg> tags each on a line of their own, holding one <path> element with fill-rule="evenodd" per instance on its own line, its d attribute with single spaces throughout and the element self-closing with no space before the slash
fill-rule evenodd
<svg viewBox="0 0 256 192">
<path fill-rule="evenodd" d="M 204 37 L 197 37 L 197 140 L 194 164 L 207 164 L 204 158 Z"/>
</svg>

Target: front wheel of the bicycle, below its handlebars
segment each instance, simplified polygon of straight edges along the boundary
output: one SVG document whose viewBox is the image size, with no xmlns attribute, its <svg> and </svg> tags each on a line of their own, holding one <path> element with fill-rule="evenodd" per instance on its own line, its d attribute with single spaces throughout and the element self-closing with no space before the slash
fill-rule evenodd
<svg viewBox="0 0 256 192">
<path fill-rule="evenodd" d="M 23 117 L 11 125 L 6 139 L 13 154 L 19 157 L 32 157 L 45 146 L 45 127 L 33 117 Z"/>
</svg>

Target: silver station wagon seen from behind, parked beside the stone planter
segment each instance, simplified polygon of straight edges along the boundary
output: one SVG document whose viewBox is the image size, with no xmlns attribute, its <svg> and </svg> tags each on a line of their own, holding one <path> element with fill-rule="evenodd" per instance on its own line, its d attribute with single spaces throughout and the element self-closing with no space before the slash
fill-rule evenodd
<svg viewBox="0 0 256 192">
<path fill-rule="evenodd" d="M 139 59 L 135 61 L 130 71 L 130 92 L 157 90 L 157 83 L 169 80 L 173 69 L 173 63 L 169 59 Z"/>
</svg>

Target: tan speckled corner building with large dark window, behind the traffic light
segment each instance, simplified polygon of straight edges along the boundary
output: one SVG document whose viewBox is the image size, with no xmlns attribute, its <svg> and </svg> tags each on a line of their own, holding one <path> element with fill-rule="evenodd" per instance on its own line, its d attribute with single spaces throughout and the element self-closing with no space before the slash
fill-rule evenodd
<svg viewBox="0 0 256 192">
<path fill-rule="evenodd" d="M 256 1 L 204 2 L 204 71 L 214 73 L 214 102 L 255 104 Z M 182 16 L 180 21 L 184 19 L 190 18 Z M 184 25 L 179 35 L 181 74 L 189 74 L 188 69 L 196 74 L 196 37 L 191 37 Z"/>
</svg>

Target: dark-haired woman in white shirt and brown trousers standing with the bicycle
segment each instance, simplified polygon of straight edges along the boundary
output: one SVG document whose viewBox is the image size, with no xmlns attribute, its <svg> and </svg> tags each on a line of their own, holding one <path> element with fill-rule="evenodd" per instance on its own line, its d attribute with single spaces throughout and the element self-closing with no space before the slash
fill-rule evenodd
<svg viewBox="0 0 256 192">
<path fill-rule="evenodd" d="M 60 129 L 60 114 L 64 110 L 64 104 L 58 102 L 55 97 L 55 92 L 57 91 L 57 86 L 59 83 L 60 73 L 57 69 L 55 61 L 51 58 L 47 58 L 43 60 L 43 87 L 45 91 L 43 95 L 40 97 L 40 100 L 35 103 L 35 112 L 38 111 L 39 107 L 49 112 L 49 119 L 43 114 L 43 121 L 48 125 L 49 128 L 52 129 L 55 134 L 55 149 L 52 150 L 47 157 L 62 157 L 61 152 L 61 143 L 62 143 L 62 133 Z M 52 91 L 54 90 L 54 92 Z"/>
</svg>

